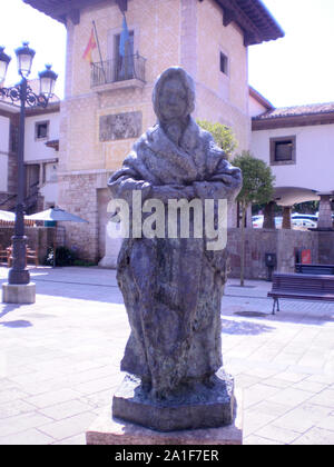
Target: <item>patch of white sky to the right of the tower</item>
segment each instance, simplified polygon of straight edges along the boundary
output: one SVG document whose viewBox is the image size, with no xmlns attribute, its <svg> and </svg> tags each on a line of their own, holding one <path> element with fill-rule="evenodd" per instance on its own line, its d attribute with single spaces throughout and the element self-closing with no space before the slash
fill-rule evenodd
<svg viewBox="0 0 334 467">
<path fill-rule="evenodd" d="M 334 101 L 334 0 L 263 0 L 283 39 L 250 46 L 249 85 L 275 107 Z"/>
</svg>

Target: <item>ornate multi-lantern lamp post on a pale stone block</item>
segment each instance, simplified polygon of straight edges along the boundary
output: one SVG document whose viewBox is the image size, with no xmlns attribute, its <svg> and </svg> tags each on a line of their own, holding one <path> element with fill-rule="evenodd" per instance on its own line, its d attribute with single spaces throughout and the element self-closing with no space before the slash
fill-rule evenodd
<svg viewBox="0 0 334 467">
<path fill-rule="evenodd" d="M 21 82 L 12 88 L 0 86 L 0 99 L 7 98 L 12 102 L 20 103 L 20 123 L 19 123 L 19 146 L 18 146 L 18 197 L 16 207 L 14 235 L 12 237 L 12 268 L 8 274 L 8 284 L 2 287 L 2 301 L 4 302 L 33 302 L 35 289 L 29 287 L 30 275 L 26 266 L 27 237 L 24 236 L 24 119 L 26 106 L 43 107 L 48 106 L 49 99 L 53 96 L 57 74 L 47 66 L 46 70 L 39 73 L 40 93 L 32 92 L 28 83 L 28 77 L 31 71 L 35 50 L 29 48 L 28 42 L 16 49 L 18 60 L 18 72 Z M 0 47 L 0 85 L 6 79 L 7 69 L 11 58 L 4 53 L 4 48 Z M 33 285 L 35 286 L 35 285 Z M 33 292 L 32 292 L 33 290 Z"/>
</svg>

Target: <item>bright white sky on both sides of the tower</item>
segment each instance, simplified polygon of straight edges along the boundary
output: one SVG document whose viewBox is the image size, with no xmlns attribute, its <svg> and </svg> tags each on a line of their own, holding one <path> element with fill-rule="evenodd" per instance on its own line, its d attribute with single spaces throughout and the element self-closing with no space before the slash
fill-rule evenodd
<svg viewBox="0 0 334 467">
<path fill-rule="evenodd" d="M 334 101 L 334 0 L 262 0 L 285 32 L 250 46 L 249 85 L 275 107 Z M 12 57 L 6 85 L 19 81 L 14 49 L 36 50 L 31 78 L 51 63 L 63 97 L 66 29 L 22 0 L 0 0 L 0 44 Z"/>
</svg>

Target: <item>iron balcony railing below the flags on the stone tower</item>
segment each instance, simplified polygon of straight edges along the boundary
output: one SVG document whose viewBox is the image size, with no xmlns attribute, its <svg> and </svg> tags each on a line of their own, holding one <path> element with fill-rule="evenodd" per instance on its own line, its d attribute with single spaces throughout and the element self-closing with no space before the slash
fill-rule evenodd
<svg viewBox="0 0 334 467">
<path fill-rule="evenodd" d="M 146 59 L 138 53 L 91 64 L 91 87 L 137 79 L 145 82 Z"/>
</svg>

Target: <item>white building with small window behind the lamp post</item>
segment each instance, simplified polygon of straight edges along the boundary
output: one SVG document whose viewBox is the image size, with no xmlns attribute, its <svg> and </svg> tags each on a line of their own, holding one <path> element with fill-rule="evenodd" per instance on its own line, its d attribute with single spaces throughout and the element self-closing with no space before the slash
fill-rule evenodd
<svg viewBox="0 0 334 467">
<path fill-rule="evenodd" d="M 37 82 L 29 81 L 35 90 Z M 0 100 L 0 209 L 14 210 L 18 192 L 18 136 L 20 107 Z M 28 213 L 58 201 L 60 103 L 55 96 L 48 108 L 27 108 L 24 131 L 26 199 Z"/>
</svg>

